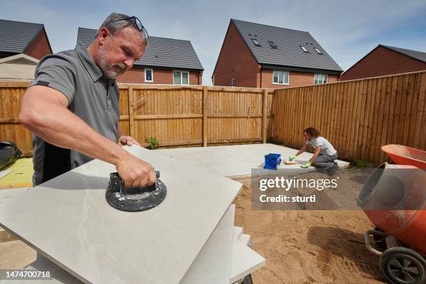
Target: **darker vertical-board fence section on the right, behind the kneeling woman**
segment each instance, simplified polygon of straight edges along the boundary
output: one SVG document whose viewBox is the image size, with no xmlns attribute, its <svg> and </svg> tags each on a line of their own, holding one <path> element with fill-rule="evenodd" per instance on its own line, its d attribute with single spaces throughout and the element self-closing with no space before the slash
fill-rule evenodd
<svg viewBox="0 0 426 284">
<path fill-rule="evenodd" d="M 346 159 L 380 163 L 381 145 L 426 150 L 426 72 L 276 90 L 273 136 L 303 145 L 317 127 Z"/>
</svg>

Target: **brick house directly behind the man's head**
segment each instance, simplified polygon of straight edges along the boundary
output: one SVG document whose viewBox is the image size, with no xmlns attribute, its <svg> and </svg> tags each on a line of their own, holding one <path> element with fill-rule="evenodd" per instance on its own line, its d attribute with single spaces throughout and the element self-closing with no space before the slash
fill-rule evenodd
<svg viewBox="0 0 426 284">
<path fill-rule="evenodd" d="M 97 30 L 79 28 L 77 41 L 86 47 Z M 145 54 L 117 78 L 120 83 L 202 85 L 203 66 L 189 40 L 150 36 Z"/>
</svg>

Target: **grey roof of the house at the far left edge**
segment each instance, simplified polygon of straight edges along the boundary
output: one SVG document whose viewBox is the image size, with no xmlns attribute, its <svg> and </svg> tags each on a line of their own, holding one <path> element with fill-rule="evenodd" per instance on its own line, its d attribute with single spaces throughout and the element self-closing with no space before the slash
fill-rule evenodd
<svg viewBox="0 0 426 284">
<path fill-rule="evenodd" d="M 0 52 L 24 53 L 42 29 L 43 24 L 0 19 Z"/>
</svg>

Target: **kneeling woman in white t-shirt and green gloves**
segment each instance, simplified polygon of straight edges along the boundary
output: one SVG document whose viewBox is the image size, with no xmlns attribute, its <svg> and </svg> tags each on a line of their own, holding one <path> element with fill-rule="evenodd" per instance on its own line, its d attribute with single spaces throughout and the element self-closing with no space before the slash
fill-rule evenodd
<svg viewBox="0 0 426 284">
<path fill-rule="evenodd" d="M 315 168 L 334 172 L 338 168 L 338 165 L 335 159 L 338 158 L 338 154 L 336 149 L 333 148 L 333 145 L 322 136 L 319 136 L 319 130 L 314 127 L 308 127 L 303 131 L 303 136 L 306 139 L 305 145 L 296 153 L 296 155 L 289 157 L 289 160 L 292 161 L 297 156 L 301 155 L 301 153 L 308 150 L 308 146 L 311 145 L 315 153 L 310 158 L 308 163 L 302 165 L 302 168 L 308 168 L 308 166 L 312 165 Z"/>
</svg>

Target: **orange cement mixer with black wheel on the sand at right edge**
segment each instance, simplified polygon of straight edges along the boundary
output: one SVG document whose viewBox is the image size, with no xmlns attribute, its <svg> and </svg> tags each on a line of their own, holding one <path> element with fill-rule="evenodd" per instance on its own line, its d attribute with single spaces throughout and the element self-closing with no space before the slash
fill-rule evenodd
<svg viewBox="0 0 426 284">
<path fill-rule="evenodd" d="M 380 255 L 386 280 L 426 283 L 426 171 L 381 164 L 369 176 L 357 203 L 375 226 L 365 232 L 365 244 Z"/>
</svg>

